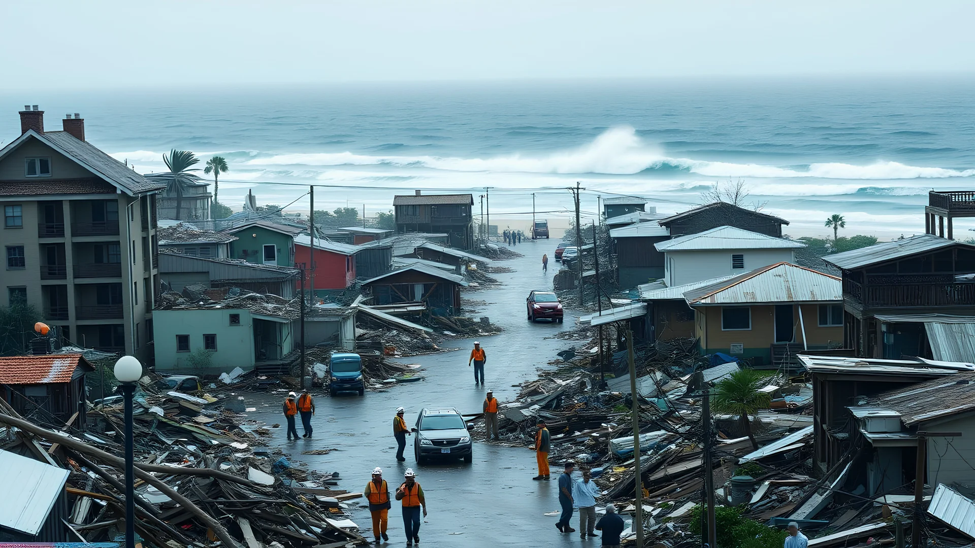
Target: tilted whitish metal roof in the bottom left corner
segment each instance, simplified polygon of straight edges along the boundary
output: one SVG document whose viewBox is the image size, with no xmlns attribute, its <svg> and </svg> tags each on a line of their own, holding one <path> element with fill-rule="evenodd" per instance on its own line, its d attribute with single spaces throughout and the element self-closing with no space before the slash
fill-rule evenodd
<svg viewBox="0 0 975 548">
<path fill-rule="evenodd" d="M 36 535 L 63 492 L 68 471 L 6 450 L 0 450 L 0 470 L 0 526 Z"/>
</svg>

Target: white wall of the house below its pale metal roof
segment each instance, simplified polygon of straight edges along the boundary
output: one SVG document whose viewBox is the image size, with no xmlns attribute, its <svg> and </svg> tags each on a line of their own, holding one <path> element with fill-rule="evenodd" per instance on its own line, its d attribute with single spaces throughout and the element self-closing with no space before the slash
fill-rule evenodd
<svg viewBox="0 0 975 548">
<path fill-rule="evenodd" d="M 745 268 L 731 268 L 732 254 L 745 255 Z M 793 250 L 716 250 L 667 252 L 665 255 L 664 279 L 670 287 L 744 274 L 776 262 L 795 261 Z"/>
</svg>

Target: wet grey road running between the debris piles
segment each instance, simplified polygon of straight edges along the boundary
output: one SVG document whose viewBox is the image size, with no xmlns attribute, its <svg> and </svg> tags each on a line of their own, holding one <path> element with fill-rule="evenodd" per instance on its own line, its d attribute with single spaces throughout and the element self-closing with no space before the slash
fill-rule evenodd
<svg viewBox="0 0 975 548">
<path fill-rule="evenodd" d="M 565 348 L 564 341 L 549 335 L 570 329 L 575 323 L 576 316 L 569 312 L 564 324 L 526 322 L 528 292 L 552 288 L 552 275 L 559 267 L 552 258 L 557 243 L 554 239 L 524 241 L 514 248 L 524 257 L 498 262 L 516 270 L 494 275 L 502 282 L 501 287 L 464 294 L 487 301 L 487 305 L 476 307 L 481 312 L 478 315 L 489 317 L 505 330 L 479 338 L 487 351 L 485 387 L 493 389 L 500 402 L 513 399 L 518 392 L 513 384 L 536 378 L 537 368 Z M 542 254 L 549 254 L 548 273 L 541 269 Z M 428 406 L 452 406 L 464 413 L 481 411 L 485 390 L 475 386 L 473 368 L 467 367 L 472 343 L 473 340 L 453 341 L 460 350 L 403 359 L 424 368 L 422 382 L 397 385 L 379 393 L 367 392 L 361 398 L 316 394 L 315 437 L 288 442 L 285 428 L 277 428 L 272 430 L 272 444 L 309 468 L 339 472 L 339 489 L 361 491 L 370 480 L 372 468 L 379 466 L 392 491 L 402 482 L 404 471 L 413 468 L 429 504 L 427 523 L 420 528 L 420 540 L 428 546 L 599 546 L 598 538 L 582 541 L 577 533 L 560 533 L 555 528 L 558 518 L 544 515 L 559 510 L 555 479 L 561 470 L 552 463 L 553 481 L 532 481 L 536 463 L 531 450 L 475 444 L 472 464 L 457 460 L 417 466 L 412 455 L 413 438 L 408 437 L 404 452 L 407 461 L 397 462 L 392 436 L 397 407 L 407 409 L 409 426 L 415 422 L 416 412 Z M 248 406 L 258 408 L 248 413 L 251 418 L 284 423 L 280 394 L 248 398 Z M 326 448 L 334 450 L 325 455 L 301 454 L 302 450 Z M 366 504 L 365 499 L 351 502 Z M 368 509 L 356 507 L 350 513 L 363 535 L 371 539 Z M 394 500 L 389 512 L 389 545 L 403 546 L 406 542 L 401 516 L 401 505 Z"/>
</svg>

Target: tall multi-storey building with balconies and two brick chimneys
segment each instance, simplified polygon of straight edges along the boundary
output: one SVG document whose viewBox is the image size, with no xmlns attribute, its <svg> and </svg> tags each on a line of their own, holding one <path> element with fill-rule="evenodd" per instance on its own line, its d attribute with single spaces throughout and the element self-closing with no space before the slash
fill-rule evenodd
<svg viewBox="0 0 975 548">
<path fill-rule="evenodd" d="M 37 105 L 0 150 L 0 299 L 25 298 L 79 346 L 152 355 L 159 288 L 156 195 L 147 181 L 85 140 L 75 113 L 45 131 Z"/>
</svg>

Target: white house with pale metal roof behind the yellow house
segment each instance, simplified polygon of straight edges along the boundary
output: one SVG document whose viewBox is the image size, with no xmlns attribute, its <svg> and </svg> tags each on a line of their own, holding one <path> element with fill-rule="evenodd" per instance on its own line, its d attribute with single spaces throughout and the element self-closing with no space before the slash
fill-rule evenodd
<svg viewBox="0 0 975 548">
<path fill-rule="evenodd" d="M 664 283 L 668 287 L 692 284 L 719 276 L 744 274 L 778 262 L 795 262 L 804 244 L 719 226 L 654 245 L 664 254 Z"/>
</svg>

